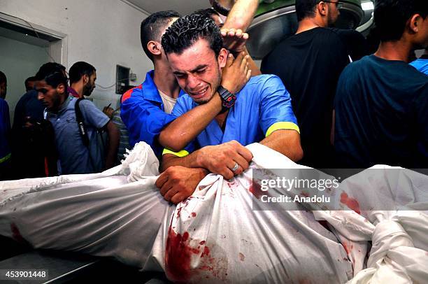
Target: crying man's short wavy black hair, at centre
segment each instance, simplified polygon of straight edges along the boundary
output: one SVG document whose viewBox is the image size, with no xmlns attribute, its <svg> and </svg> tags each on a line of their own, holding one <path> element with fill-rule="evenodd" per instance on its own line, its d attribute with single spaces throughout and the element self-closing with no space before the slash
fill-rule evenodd
<svg viewBox="0 0 428 284">
<path fill-rule="evenodd" d="M 162 36 L 162 47 L 166 53 L 181 54 L 199 39 L 208 41 L 215 55 L 219 55 L 223 42 L 215 22 L 204 15 L 187 15 L 180 17 L 166 29 Z"/>
</svg>

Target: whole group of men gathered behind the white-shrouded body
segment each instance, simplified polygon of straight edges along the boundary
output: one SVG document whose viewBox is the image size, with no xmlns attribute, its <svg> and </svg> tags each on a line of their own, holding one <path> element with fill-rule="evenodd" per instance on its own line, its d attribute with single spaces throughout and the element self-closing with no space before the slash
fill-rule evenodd
<svg viewBox="0 0 428 284">
<path fill-rule="evenodd" d="M 103 171 L 140 141 L 161 162 L 157 186 L 173 203 L 208 173 L 242 173 L 255 142 L 315 168 L 427 168 L 427 1 L 377 1 L 380 44 L 369 54 L 357 31 L 331 28 L 340 1 L 297 0 L 296 33 L 260 70 L 245 47 L 257 3 L 145 18 L 154 70 L 117 109 L 85 99 L 94 66 L 76 62 L 67 76 L 49 62 L 25 80 L 10 127 L 0 72 L 0 179 Z M 411 62 L 418 49 L 425 54 Z"/>
</svg>

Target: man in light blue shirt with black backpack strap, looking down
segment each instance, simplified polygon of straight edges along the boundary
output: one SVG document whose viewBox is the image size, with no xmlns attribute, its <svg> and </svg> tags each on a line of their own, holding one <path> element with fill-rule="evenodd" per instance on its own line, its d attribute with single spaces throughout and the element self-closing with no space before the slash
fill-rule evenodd
<svg viewBox="0 0 428 284">
<path fill-rule="evenodd" d="M 45 118 L 55 130 L 59 173 L 96 173 L 113 166 L 119 143 L 113 122 L 92 101 L 69 96 L 61 69 L 48 66 L 39 70 L 36 78 L 38 99 L 45 105 Z M 109 140 L 105 156 L 99 146 L 101 130 L 107 132 Z"/>
</svg>

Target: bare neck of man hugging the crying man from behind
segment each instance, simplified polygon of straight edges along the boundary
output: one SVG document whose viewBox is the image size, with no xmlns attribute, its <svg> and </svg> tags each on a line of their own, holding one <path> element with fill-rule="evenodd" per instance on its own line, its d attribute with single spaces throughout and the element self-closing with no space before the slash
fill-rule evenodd
<svg viewBox="0 0 428 284">
<path fill-rule="evenodd" d="M 155 74 L 153 81 L 158 90 L 173 99 L 178 98 L 180 86 L 177 83 L 176 76 L 171 71 L 168 64 L 155 63 Z"/>
</svg>

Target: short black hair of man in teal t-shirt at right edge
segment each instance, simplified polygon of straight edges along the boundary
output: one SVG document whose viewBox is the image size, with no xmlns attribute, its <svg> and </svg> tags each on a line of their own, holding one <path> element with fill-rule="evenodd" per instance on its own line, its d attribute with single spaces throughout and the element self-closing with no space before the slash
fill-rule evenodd
<svg viewBox="0 0 428 284">
<path fill-rule="evenodd" d="M 379 0 L 374 10 L 374 22 L 380 41 L 398 41 L 407 21 L 415 14 L 427 17 L 427 0 Z"/>
</svg>

